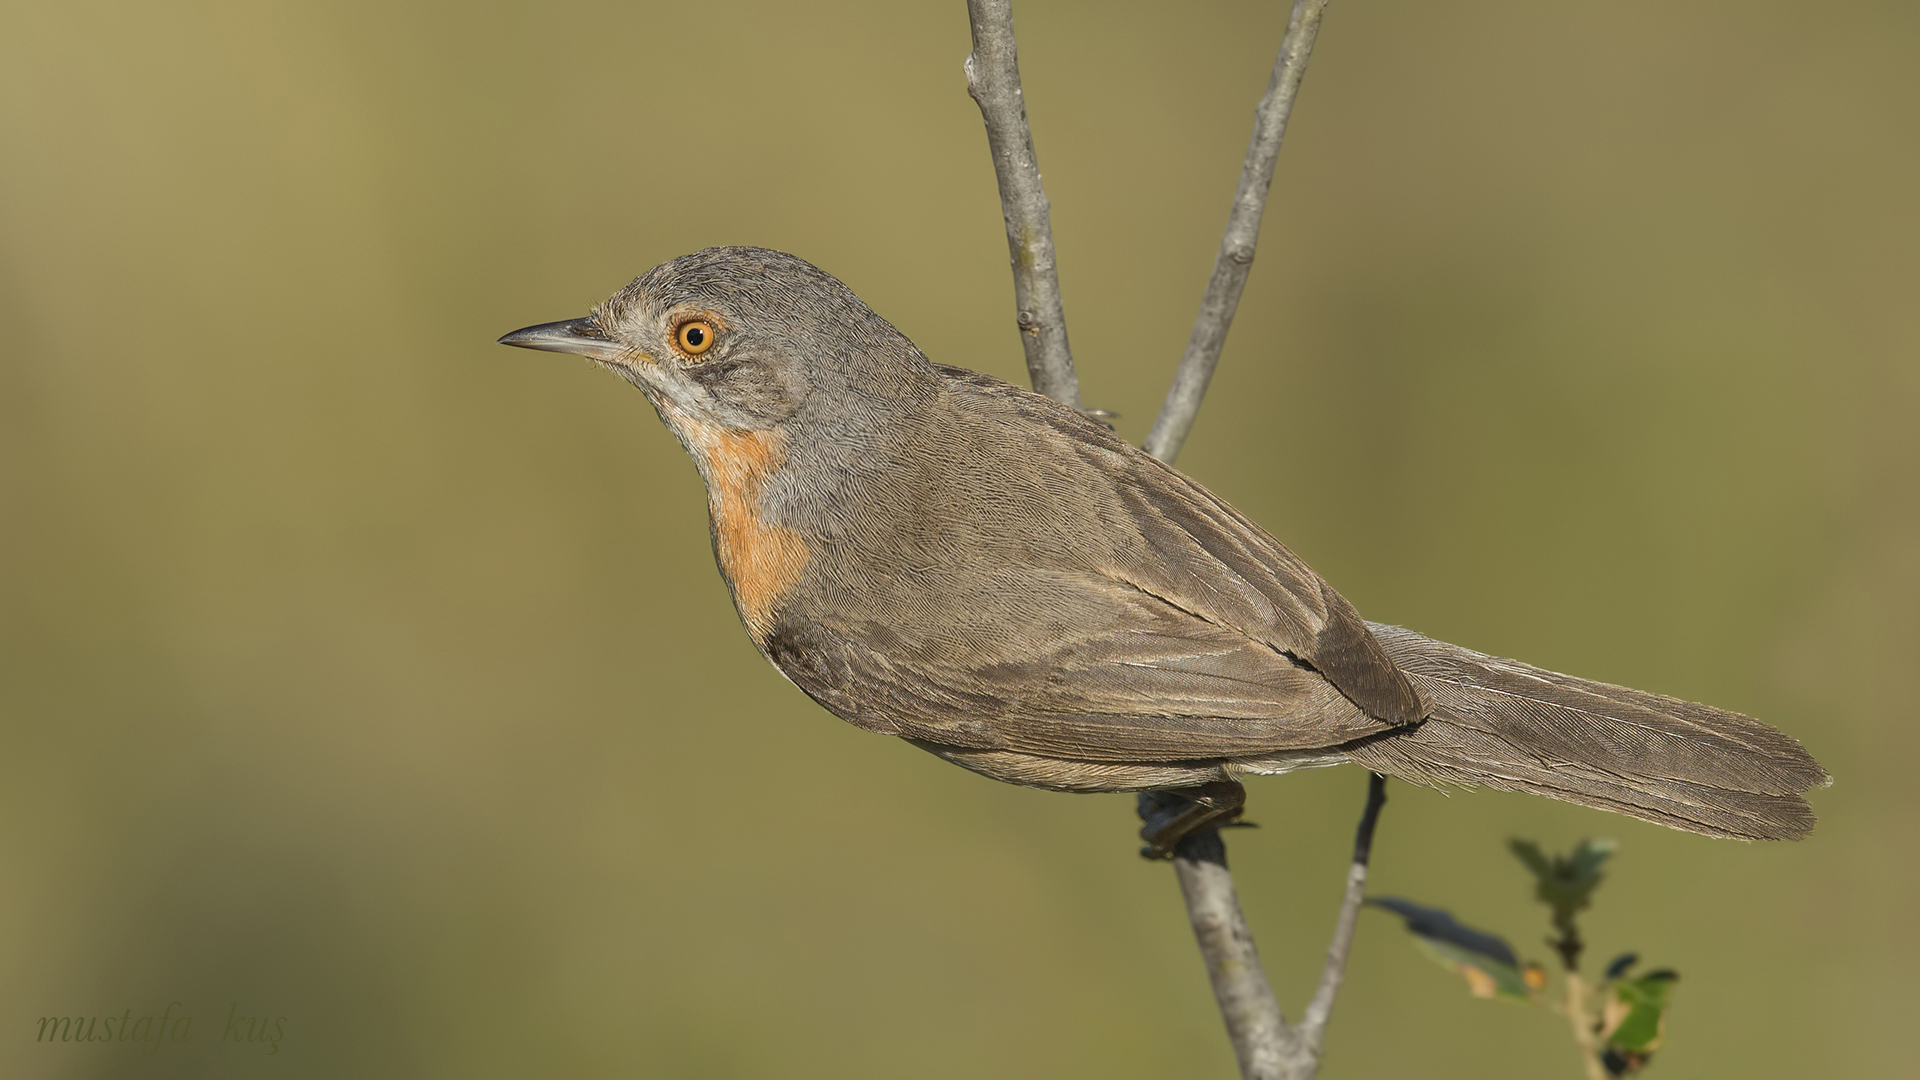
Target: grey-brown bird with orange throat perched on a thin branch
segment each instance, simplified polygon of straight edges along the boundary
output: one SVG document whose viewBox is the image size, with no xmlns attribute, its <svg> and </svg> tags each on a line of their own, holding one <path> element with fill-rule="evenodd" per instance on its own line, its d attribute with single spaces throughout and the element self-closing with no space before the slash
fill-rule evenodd
<svg viewBox="0 0 1920 1080">
<path fill-rule="evenodd" d="M 693 252 L 499 344 L 645 394 L 808 698 L 995 780 L 1140 792 L 1150 857 L 1233 822 L 1246 776 L 1342 763 L 1740 840 L 1807 836 L 1830 782 L 1751 717 L 1361 619 L 1219 496 L 797 256 Z"/>
</svg>

